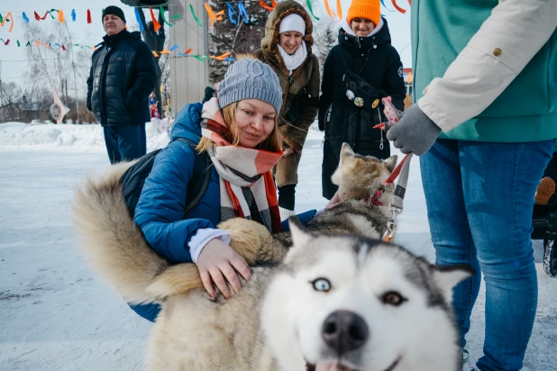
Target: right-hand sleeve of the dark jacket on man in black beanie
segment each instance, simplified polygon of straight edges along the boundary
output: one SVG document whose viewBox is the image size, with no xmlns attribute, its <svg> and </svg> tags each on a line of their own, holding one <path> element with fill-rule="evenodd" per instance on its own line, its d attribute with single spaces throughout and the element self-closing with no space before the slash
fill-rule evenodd
<svg viewBox="0 0 557 371">
<path fill-rule="evenodd" d="M 138 44 L 137 57 L 133 65 L 133 85 L 126 93 L 125 105 L 135 108 L 149 96 L 157 81 L 157 70 L 151 50 L 145 42 Z"/>
</svg>

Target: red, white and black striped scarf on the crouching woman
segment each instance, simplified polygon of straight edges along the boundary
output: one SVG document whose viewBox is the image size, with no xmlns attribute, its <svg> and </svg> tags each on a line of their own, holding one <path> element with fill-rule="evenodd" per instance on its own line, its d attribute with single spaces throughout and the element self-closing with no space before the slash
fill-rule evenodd
<svg viewBox="0 0 557 371">
<path fill-rule="evenodd" d="M 207 153 L 220 177 L 221 222 L 236 217 L 259 219 L 270 232 L 279 232 L 279 202 L 270 170 L 282 153 L 233 146 L 233 135 L 216 98 L 203 105 L 201 118 L 201 135 L 216 144 Z M 251 215 L 252 203 L 260 218 Z"/>
</svg>

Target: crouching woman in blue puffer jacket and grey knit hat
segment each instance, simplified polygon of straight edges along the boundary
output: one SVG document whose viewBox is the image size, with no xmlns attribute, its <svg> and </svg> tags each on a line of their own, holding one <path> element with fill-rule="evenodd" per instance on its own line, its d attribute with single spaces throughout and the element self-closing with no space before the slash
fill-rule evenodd
<svg viewBox="0 0 557 371">
<path fill-rule="evenodd" d="M 207 292 L 216 287 L 231 296 L 238 274 L 250 279 L 245 261 L 229 246 L 219 222 L 245 217 L 269 231 L 281 229 L 275 184 L 270 169 L 282 156 L 277 117 L 282 104 L 279 78 L 256 59 L 242 59 L 227 71 L 217 98 L 188 104 L 177 117 L 171 142 L 155 158 L 135 208 L 134 221 L 152 249 L 171 263 L 194 262 Z M 178 138 L 199 143 L 212 161 L 210 181 L 199 203 L 187 213 L 187 184 L 193 174 L 194 150 Z M 301 215 L 302 221 L 315 210 Z M 154 321 L 159 306 L 132 306 Z"/>
</svg>

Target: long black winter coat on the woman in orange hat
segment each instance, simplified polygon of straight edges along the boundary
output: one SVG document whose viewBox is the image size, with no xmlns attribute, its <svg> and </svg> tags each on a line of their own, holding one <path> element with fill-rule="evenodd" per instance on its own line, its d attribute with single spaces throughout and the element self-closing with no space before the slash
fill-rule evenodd
<svg viewBox="0 0 557 371">
<path fill-rule="evenodd" d="M 406 96 L 402 63 L 397 50 L 390 43 L 387 20 L 381 30 L 370 37 L 358 38 L 339 31 L 339 45 L 333 47 L 324 63 L 322 95 L 319 102 L 319 129 L 324 130 L 323 195 L 331 199 L 337 186 L 331 176 L 338 167 L 342 142 L 351 145 L 356 153 L 377 158 L 388 158 L 390 147 L 385 133 L 373 126 L 384 122 L 383 105 L 371 108 L 375 99 L 364 99 L 364 107 L 357 107 L 346 97 L 347 70 L 359 75 L 382 95 L 390 95 L 399 110 L 404 109 Z M 367 91 L 366 91 L 367 92 Z M 355 96 L 359 94 L 354 92 Z"/>
</svg>

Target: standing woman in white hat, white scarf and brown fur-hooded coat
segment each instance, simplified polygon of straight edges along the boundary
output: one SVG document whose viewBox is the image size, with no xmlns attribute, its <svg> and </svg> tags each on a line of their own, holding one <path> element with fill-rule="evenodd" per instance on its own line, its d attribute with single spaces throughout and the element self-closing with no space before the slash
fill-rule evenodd
<svg viewBox="0 0 557 371">
<path fill-rule="evenodd" d="M 284 157 L 275 168 L 280 218 L 294 214 L 297 167 L 319 106 L 319 61 L 312 54 L 313 24 L 302 5 L 281 1 L 269 14 L 255 57 L 277 73 L 283 104 L 279 113 Z"/>
</svg>

